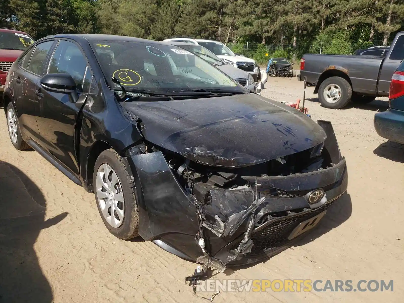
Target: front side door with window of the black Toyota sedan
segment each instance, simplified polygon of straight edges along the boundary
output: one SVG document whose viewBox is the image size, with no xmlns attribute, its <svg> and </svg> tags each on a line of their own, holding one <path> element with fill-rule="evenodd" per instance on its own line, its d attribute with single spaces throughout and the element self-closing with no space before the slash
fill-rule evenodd
<svg viewBox="0 0 404 303">
<path fill-rule="evenodd" d="M 79 98 L 74 103 L 70 95 L 47 91 L 38 82 L 37 90 L 43 95 L 38 117 L 40 145 L 78 175 L 78 143 L 75 141 L 81 128 L 78 113 L 90 90 L 93 73 L 80 46 L 73 40 L 60 40 L 50 58 L 47 74 L 70 74 L 76 82 Z"/>
</svg>

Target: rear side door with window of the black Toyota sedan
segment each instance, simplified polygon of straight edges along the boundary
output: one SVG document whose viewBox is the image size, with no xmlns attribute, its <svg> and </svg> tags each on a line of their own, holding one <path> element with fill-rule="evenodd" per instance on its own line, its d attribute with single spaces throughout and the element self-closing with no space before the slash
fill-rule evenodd
<svg viewBox="0 0 404 303">
<path fill-rule="evenodd" d="M 55 40 L 48 40 L 33 46 L 19 62 L 13 77 L 13 95 L 21 132 L 37 143 L 40 134 L 36 116 L 40 114 L 40 106 L 35 86 L 43 75 L 44 65 L 54 42 Z"/>
</svg>

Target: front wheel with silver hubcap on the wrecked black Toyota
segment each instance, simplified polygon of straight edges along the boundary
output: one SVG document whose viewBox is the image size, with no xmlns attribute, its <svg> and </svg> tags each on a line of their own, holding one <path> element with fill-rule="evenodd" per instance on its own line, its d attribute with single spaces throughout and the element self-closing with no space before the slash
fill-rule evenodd
<svg viewBox="0 0 404 303">
<path fill-rule="evenodd" d="M 139 229 L 135 185 L 128 169 L 114 149 L 107 149 L 98 156 L 93 175 L 101 219 L 111 234 L 123 240 L 136 237 Z"/>
</svg>

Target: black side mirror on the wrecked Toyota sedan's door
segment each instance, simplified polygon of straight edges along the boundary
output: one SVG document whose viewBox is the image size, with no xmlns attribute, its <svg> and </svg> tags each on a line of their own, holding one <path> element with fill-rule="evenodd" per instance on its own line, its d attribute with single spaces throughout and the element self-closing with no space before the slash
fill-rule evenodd
<svg viewBox="0 0 404 303">
<path fill-rule="evenodd" d="M 73 103 L 78 100 L 76 82 L 69 74 L 47 74 L 39 82 L 45 90 L 69 94 Z"/>
</svg>

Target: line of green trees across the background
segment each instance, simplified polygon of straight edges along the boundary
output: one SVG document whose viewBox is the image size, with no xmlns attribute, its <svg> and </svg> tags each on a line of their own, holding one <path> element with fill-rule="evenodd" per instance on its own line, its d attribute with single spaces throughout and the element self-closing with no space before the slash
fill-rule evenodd
<svg viewBox="0 0 404 303">
<path fill-rule="evenodd" d="M 404 29 L 404 0 L 2 0 L 0 26 L 34 39 L 100 33 L 208 38 L 253 56 L 352 53 Z M 305 47 L 301 47 L 305 46 Z"/>
</svg>

